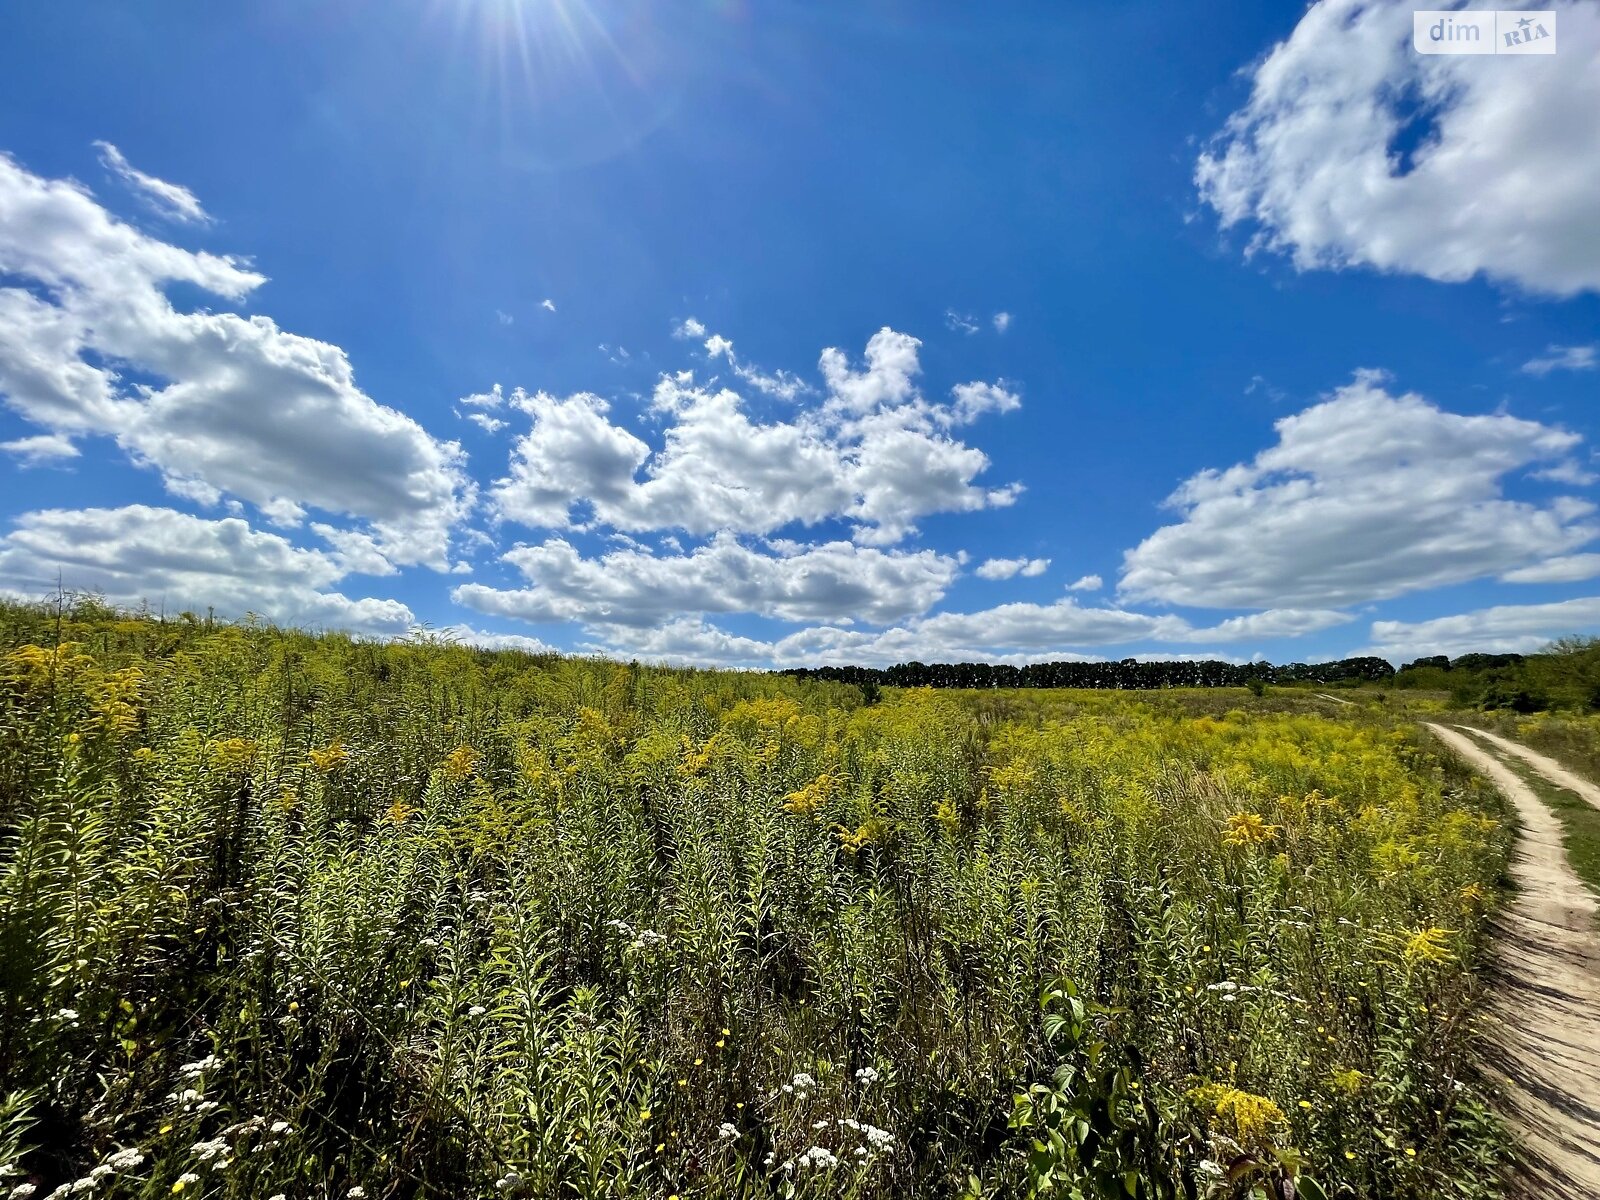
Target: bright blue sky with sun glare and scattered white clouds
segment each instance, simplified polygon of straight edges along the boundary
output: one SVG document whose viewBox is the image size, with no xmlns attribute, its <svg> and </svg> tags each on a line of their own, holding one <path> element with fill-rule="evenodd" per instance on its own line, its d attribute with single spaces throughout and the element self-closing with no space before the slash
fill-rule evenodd
<svg viewBox="0 0 1600 1200">
<path fill-rule="evenodd" d="M 646 661 L 1600 632 L 1600 5 L 0 8 L 0 590 Z"/>
</svg>

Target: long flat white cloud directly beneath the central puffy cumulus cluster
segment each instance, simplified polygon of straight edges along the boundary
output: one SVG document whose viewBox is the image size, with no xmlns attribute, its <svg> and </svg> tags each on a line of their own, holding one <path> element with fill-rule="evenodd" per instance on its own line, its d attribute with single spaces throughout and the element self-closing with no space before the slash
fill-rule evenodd
<svg viewBox="0 0 1600 1200">
<path fill-rule="evenodd" d="M 765 554 L 718 534 L 682 555 L 642 549 L 584 558 L 558 538 L 504 557 L 528 587 L 462 584 L 456 603 L 522 621 L 651 626 L 678 614 L 755 613 L 781 621 L 885 624 L 926 611 L 955 579 L 955 558 L 826 542 Z"/>
</svg>

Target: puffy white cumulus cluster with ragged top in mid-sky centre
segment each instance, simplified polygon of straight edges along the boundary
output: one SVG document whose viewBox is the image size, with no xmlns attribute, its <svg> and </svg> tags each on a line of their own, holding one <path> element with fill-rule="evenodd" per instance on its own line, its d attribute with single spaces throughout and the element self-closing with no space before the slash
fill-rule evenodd
<svg viewBox="0 0 1600 1200">
<path fill-rule="evenodd" d="M 755 421 L 741 395 L 696 386 L 686 371 L 662 376 L 651 398 L 664 427 L 659 450 L 613 422 L 597 395 L 517 390 L 512 403 L 533 427 L 494 483 L 494 509 L 550 530 L 694 536 L 842 518 L 854 525 L 854 541 L 888 546 L 928 514 L 1011 504 L 1019 488 L 978 485 L 989 458 L 947 430 L 1010 411 L 1018 398 L 998 384 L 963 384 L 949 403 L 925 398 L 915 386 L 918 346 L 882 330 L 859 371 L 843 352 L 826 350 L 827 397 L 787 421 Z"/>
</svg>

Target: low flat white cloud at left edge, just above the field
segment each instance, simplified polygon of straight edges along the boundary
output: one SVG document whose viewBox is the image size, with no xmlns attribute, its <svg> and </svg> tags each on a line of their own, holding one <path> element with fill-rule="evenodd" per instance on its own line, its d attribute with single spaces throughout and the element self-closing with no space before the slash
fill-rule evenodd
<svg viewBox="0 0 1600 1200">
<path fill-rule="evenodd" d="M 0 579 L 13 595 L 69 590 L 174 613 L 214 606 L 294 626 L 400 634 L 416 618 L 398 600 L 330 590 L 346 574 L 336 555 L 304 550 L 237 517 L 205 520 L 171 509 L 46 509 L 22 514 L 0 538 Z"/>
</svg>

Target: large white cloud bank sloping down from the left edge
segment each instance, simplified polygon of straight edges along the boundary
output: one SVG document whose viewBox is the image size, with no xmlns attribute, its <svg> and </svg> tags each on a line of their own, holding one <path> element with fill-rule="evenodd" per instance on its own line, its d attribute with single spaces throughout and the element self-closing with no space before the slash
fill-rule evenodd
<svg viewBox="0 0 1600 1200">
<path fill-rule="evenodd" d="M 336 346 L 267 317 L 178 312 L 165 286 L 242 301 L 264 278 L 112 218 L 0 155 L 0 395 L 54 434 L 104 434 L 170 491 L 283 518 L 368 518 L 395 562 L 448 565 L 472 506 L 461 448 L 355 386 Z"/>
</svg>

